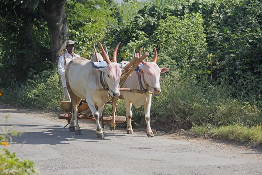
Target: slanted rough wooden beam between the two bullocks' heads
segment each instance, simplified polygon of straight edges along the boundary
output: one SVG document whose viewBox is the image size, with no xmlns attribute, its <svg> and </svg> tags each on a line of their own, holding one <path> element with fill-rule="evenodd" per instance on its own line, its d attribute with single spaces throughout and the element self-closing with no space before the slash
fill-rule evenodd
<svg viewBox="0 0 262 175">
<path fill-rule="evenodd" d="M 148 52 L 145 52 L 141 57 L 134 57 L 132 61 L 130 61 L 123 69 L 125 72 L 122 74 L 120 78 L 120 87 L 124 84 L 128 76 L 135 70 L 136 67 L 146 58 L 149 56 Z M 121 91 L 121 90 L 120 90 Z M 125 91 L 125 90 L 123 90 Z"/>
</svg>

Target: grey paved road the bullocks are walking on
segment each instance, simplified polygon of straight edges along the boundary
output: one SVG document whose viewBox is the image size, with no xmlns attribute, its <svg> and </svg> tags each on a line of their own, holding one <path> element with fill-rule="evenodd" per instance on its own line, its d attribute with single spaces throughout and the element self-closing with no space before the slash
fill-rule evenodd
<svg viewBox="0 0 262 175">
<path fill-rule="evenodd" d="M 23 132 L 8 149 L 32 160 L 40 174 L 262 174 L 259 151 L 121 130 L 106 130 L 101 140 L 93 124 L 75 135 L 64 123 L 25 113 L 0 107 L 0 132 Z"/>
</svg>

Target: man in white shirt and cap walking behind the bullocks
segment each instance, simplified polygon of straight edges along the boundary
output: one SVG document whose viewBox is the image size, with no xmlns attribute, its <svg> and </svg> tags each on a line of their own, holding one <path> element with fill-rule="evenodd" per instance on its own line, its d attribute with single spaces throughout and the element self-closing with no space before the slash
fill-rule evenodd
<svg viewBox="0 0 262 175">
<path fill-rule="evenodd" d="M 77 57 L 80 57 L 79 55 L 74 53 L 74 41 L 72 40 L 68 40 L 66 42 L 66 50 L 67 52 L 65 54 L 63 54 L 62 56 L 59 57 L 58 60 L 58 73 L 61 76 L 61 80 L 62 80 L 62 86 L 64 89 L 64 96 L 66 101 L 71 101 L 67 87 L 66 87 L 66 81 L 65 81 L 65 68 L 67 67 L 68 63 Z"/>
</svg>

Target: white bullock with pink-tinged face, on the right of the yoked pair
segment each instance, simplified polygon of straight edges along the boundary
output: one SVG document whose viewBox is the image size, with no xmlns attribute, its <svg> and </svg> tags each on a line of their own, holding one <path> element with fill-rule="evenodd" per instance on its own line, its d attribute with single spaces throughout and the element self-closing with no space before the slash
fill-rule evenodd
<svg viewBox="0 0 262 175">
<path fill-rule="evenodd" d="M 141 56 L 141 51 L 143 47 L 139 50 L 139 57 Z M 143 88 L 147 89 L 148 92 L 146 93 L 134 93 L 134 92 L 126 92 L 121 91 L 120 92 L 120 99 L 124 100 L 124 105 L 126 108 L 126 118 L 127 118 L 127 133 L 133 134 L 133 129 L 131 125 L 131 118 L 132 118 L 132 111 L 131 107 L 132 104 L 135 107 L 140 107 L 141 105 L 144 105 L 144 114 L 145 114 L 145 120 L 147 124 L 146 133 L 148 137 L 154 137 L 154 134 L 150 127 L 150 107 L 151 107 L 151 100 L 152 100 L 152 93 L 160 93 L 160 73 L 165 73 L 168 71 L 168 68 L 159 68 L 157 65 L 157 51 L 156 48 L 154 48 L 155 55 L 152 62 L 146 62 L 142 61 L 143 66 L 139 66 L 140 73 L 138 74 L 137 71 L 134 71 L 131 73 L 131 76 L 129 76 L 126 81 L 123 83 L 123 88 L 130 88 L 130 89 L 140 89 L 139 84 L 139 77 L 141 77 L 141 82 Z M 122 64 L 127 64 L 128 62 L 122 62 Z M 113 99 L 113 119 L 111 120 L 110 129 L 115 129 L 115 112 L 116 112 L 116 103 L 117 103 L 118 97 L 115 97 Z"/>
</svg>

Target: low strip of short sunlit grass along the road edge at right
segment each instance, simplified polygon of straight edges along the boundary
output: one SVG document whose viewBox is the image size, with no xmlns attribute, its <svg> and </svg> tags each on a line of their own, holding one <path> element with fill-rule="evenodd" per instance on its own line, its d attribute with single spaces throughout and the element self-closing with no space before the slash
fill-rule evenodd
<svg viewBox="0 0 262 175">
<path fill-rule="evenodd" d="M 195 126 L 190 132 L 200 136 L 211 136 L 240 141 L 243 143 L 262 144 L 262 125 L 247 127 L 242 124 L 233 124 L 221 127 Z"/>
</svg>

